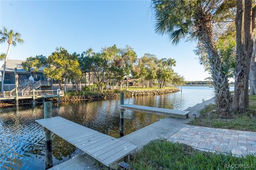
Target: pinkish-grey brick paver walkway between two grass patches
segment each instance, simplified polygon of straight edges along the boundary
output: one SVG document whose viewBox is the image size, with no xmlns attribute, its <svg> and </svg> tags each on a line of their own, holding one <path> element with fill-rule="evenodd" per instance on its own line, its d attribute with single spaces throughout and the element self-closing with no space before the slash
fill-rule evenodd
<svg viewBox="0 0 256 170">
<path fill-rule="evenodd" d="M 231 151 L 234 155 L 256 153 L 256 132 L 186 125 L 168 140 L 205 151 Z"/>
</svg>

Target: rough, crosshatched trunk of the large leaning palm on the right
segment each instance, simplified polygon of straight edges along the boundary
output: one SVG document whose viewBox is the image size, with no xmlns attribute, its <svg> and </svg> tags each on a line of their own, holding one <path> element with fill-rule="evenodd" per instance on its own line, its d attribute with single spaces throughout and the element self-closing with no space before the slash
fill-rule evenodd
<svg viewBox="0 0 256 170">
<path fill-rule="evenodd" d="M 224 74 L 221 58 L 218 54 L 217 43 L 213 35 L 213 23 L 209 20 L 209 15 L 203 11 L 198 11 L 198 37 L 206 49 L 207 59 L 210 63 L 210 73 L 215 88 L 216 103 L 221 111 L 229 112 L 231 105 L 230 91 L 228 87 L 228 77 Z"/>
</svg>

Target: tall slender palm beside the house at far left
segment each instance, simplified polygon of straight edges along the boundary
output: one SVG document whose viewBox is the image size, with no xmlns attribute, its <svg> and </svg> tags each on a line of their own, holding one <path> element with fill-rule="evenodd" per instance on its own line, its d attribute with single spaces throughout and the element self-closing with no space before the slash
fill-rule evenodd
<svg viewBox="0 0 256 170">
<path fill-rule="evenodd" d="M 11 46 L 16 46 L 17 43 L 23 43 L 23 39 L 20 38 L 19 32 L 14 32 L 13 30 L 8 31 L 6 27 L 3 30 L 0 30 L 0 43 L 8 43 L 7 53 L 4 59 L 4 71 L 2 75 L 2 92 L 4 91 L 4 75 L 6 69 L 6 61 L 10 52 Z"/>
</svg>

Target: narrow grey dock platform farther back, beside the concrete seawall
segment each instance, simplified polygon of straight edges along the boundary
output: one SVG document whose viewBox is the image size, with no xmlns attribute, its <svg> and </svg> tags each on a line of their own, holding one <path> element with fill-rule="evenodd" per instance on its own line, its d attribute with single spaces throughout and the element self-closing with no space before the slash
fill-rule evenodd
<svg viewBox="0 0 256 170">
<path fill-rule="evenodd" d="M 189 113 L 189 111 L 179 111 L 175 109 L 131 105 L 131 104 L 120 105 L 120 107 L 123 109 L 131 109 L 137 112 L 145 112 L 145 113 L 153 113 L 153 114 L 168 114 L 170 117 L 176 117 L 176 118 L 188 118 L 188 113 Z"/>
</svg>

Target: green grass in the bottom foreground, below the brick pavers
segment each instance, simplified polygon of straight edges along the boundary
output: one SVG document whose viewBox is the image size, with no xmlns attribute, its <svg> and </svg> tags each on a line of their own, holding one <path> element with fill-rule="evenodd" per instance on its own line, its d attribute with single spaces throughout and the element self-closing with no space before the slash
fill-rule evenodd
<svg viewBox="0 0 256 170">
<path fill-rule="evenodd" d="M 133 169 L 232 169 L 239 164 L 256 168 L 256 156 L 233 157 L 193 149 L 187 145 L 155 140 L 144 146 L 130 161 Z M 244 169 L 244 168 L 237 168 Z"/>
</svg>

